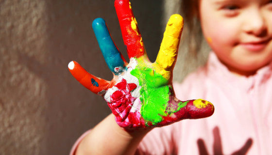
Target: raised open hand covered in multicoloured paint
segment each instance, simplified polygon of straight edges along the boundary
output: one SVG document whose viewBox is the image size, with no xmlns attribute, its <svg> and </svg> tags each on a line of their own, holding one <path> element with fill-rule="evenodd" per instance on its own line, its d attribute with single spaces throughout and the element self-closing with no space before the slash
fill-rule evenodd
<svg viewBox="0 0 272 155">
<path fill-rule="evenodd" d="M 71 74 L 87 89 L 101 95 L 124 128 L 146 128 L 172 124 L 183 119 L 211 116 L 213 105 L 205 100 L 180 101 L 172 86 L 183 18 L 172 15 L 156 59 L 149 61 L 129 0 L 115 0 L 116 12 L 127 48 L 127 63 L 115 46 L 102 18 L 93 29 L 104 59 L 114 74 L 111 81 L 97 78 L 77 62 L 70 62 Z"/>
</svg>

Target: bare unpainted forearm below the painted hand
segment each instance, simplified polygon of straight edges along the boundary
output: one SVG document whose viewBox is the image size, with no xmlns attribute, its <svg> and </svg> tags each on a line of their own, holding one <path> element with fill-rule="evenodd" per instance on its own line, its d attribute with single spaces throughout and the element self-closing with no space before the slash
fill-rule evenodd
<svg viewBox="0 0 272 155">
<path fill-rule="evenodd" d="M 150 130 L 125 131 L 110 114 L 81 141 L 76 155 L 133 155 Z"/>
</svg>

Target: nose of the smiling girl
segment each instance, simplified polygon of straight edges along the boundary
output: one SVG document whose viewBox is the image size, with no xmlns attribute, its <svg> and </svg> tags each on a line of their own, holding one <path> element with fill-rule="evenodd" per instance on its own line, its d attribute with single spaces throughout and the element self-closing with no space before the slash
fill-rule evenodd
<svg viewBox="0 0 272 155">
<path fill-rule="evenodd" d="M 251 14 L 247 14 L 246 16 L 247 22 L 245 22 L 244 31 L 258 37 L 266 35 L 267 25 L 265 17 L 259 9 L 251 11 Z"/>
</svg>

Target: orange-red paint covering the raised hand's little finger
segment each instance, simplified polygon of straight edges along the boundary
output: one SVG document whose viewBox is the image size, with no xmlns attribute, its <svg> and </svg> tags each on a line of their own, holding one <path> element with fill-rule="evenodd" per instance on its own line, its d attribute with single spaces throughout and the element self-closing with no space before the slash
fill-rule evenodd
<svg viewBox="0 0 272 155">
<path fill-rule="evenodd" d="M 73 61 L 74 62 L 74 61 Z M 69 68 L 68 68 L 69 69 Z M 93 93 L 99 93 L 102 90 L 108 90 L 108 88 L 113 87 L 114 83 L 106 81 L 102 78 L 97 78 L 90 73 L 88 73 L 80 64 L 74 62 L 74 68 L 69 69 L 74 78 L 76 78 L 85 88 L 92 91 Z M 91 82 L 91 79 L 95 79 L 98 83 L 98 87 L 94 86 Z"/>
</svg>

